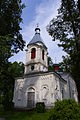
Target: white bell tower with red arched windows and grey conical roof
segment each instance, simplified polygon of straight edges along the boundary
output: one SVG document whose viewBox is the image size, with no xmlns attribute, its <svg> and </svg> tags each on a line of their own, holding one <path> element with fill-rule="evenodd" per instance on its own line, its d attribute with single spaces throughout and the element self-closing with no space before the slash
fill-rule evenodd
<svg viewBox="0 0 80 120">
<path fill-rule="evenodd" d="M 35 28 L 35 35 L 27 45 L 25 74 L 48 71 L 47 47 L 40 36 L 40 28 Z"/>
</svg>

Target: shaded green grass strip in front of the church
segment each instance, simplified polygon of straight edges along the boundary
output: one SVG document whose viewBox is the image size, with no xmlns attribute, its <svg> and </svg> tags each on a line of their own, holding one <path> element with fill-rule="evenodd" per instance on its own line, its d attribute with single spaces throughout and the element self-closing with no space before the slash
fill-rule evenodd
<svg viewBox="0 0 80 120">
<path fill-rule="evenodd" d="M 37 113 L 36 111 L 0 111 L 0 117 L 6 120 L 47 120 L 50 111 L 45 113 Z"/>
</svg>

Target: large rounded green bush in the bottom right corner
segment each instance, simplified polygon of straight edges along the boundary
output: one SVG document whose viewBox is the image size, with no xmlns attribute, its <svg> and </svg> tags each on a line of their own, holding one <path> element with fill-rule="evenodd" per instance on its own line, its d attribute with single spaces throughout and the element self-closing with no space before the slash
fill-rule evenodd
<svg viewBox="0 0 80 120">
<path fill-rule="evenodd" d="M 71 99 L 57 101 L 48 120 L 80 120 L 80 105 Z"/>
</svg>

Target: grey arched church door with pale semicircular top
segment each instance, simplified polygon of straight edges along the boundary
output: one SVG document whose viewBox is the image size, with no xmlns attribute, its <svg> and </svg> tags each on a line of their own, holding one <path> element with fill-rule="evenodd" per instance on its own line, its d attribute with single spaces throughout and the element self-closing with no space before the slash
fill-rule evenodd
<svg viewBox="0 0 80 120">
<path fill-rule="evenodd" d="M 35 105 L 35 92 L 34 89 L 30 88 L 27 93 L 27 107 L 34 108 Z"/>
</svg>

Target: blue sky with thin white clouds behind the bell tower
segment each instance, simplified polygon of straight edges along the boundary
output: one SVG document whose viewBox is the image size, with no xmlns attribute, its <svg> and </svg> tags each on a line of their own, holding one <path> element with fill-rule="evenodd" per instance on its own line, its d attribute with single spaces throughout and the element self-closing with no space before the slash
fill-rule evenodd
<svg viewBox="0 0 80 120">
<path fill-rule="evenodd" d="M 22 12 L 23 23 L 20 26 L 26 46 L 23 51 L 14 54 L 10 61 L 26 62 L 25 50 L 35 34 L 35 28 L 38 23 L 41 29 L 41 37 L 48 48 L 48 53 L 53 63 L 61 62 L 62 56 L 66 55 L 66 53 L 62 51 L 62 48 L 58 47 L 58 41 L 52 41 L 52 37 L 46 30 L 46 26 L 58 14 L 57 9 L 60 7 L 60 0 L 22 0 L 22 2 L 25 3 L 26 7 Z"/>
</svg>

